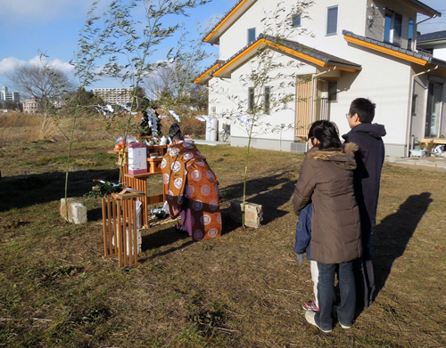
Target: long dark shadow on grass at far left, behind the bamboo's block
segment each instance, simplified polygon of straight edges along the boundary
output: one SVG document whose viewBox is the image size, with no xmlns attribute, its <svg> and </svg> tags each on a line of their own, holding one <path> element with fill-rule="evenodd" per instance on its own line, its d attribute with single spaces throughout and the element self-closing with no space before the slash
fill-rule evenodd
<svg viewBox="0 0 446 348">
<path fill-rule="evenodd" d="M 70 172 L 68 197 L 82 197 L 91 190 L 93 179 L 117 182 L 118 178 L 119 169 Z M 0 182 L 0 212 L 47 203 L 64 196 L 65 173 L 62 172 L 4 177 Z"/>
</svg>

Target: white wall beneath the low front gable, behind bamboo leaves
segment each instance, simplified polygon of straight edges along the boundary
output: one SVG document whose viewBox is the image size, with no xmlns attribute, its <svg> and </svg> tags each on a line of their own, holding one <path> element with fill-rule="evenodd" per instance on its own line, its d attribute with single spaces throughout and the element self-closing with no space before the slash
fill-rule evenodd
<svg viewBox="0 0 446 348">
<path fill-rule="evenodd" d="M 252 136 L 255 139 L 253 146 L 269 150 L 289 151 L 290 144 L 294 142 L 295 134 L 293 127 L 295 123 L 295 102 L 288 101 L 284 105 L 278 101 L 275 102 L 275 100 L 279 98 L 278 93 L 295 94 L 296 77 L 298 75 L 314 74 L 316 69 L 308 64 L 288 66 L 290 58 L 280 53 L 275 53 L 274 62 L 283 66 L 277 72 L 283 74 L 284 78 L 275 78 L 270 83 L 265 84 L 271 87 L 270 112 L 269 114 L 260 114 L 255 122 L 256 125 L 254 126 Z M 247 113 L 247 100 L 248 88 L 252 85 L 250 83 L 245 84 L 244 79 L 252 72 L 252 69 L 258 69 L 257 59 L 252 59 L 239 67 L 239 69 L 236 69 L 232 73 L 230 80 L 214 79 L 219 80 L 219 82 L 213 82 L 211 85 L 210 101 L 211 98 L 214 98 L 214 101 L 219 102 L 219 106 L 216 105 L 217 113 L 225 112 L 227 115 L 231 115 L 231 145 L 235 146 L 245 146 L 247 144 L 249 126 L 237 119 L 237 116 L 251 117 Z M 274 71 L 272 74 L 274 74 Z M 223 86 L 228 84 L 230 84 L 230 88 L 223 88 Z M 260 89 L 254 92 L 254 98 L 258 104 L 263 103 L 263 87 L 265 85 L 261 85 Z M 285 85 L 285 87 L 280 87 L 280 85 Z M 258 100 L 257 98 L 259 97 L 260 99 Z M 212 102 L 212 105 L 214 105 L 214 102 Z M 223 123 L 227 123 L 227 118 L 219 117 L 219 130 L 221 130 Z M 281 131 L 272 132 L 272 129 L 278 125 L 285 125 L 285 128 Z"/>
</svg>

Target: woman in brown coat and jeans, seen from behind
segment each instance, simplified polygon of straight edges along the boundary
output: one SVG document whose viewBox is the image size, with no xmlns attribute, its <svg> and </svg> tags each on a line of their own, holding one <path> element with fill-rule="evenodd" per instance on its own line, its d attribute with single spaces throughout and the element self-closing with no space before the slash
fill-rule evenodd
<svg viewBox="0 0 446 348">
<path fill-rule="evenodd" d="M 336 307 L 342 328 L 351 328 L 356 304 L 352 261 L 362 254 L 359 208 L 353 191 L 354 151 L 349 143 L 343 147 L 337 127 L 329 121 L 316 121 L 310 127 L 313 148 L 301 166 L 294 190 L 295 214 L 310 202 L 311 258 L 318 263 L 319 312 L 306 312 L 305 318 L 324 332 L 334 325 L 335 273 L 339 270 L 341 303 Z"/>
</svg>

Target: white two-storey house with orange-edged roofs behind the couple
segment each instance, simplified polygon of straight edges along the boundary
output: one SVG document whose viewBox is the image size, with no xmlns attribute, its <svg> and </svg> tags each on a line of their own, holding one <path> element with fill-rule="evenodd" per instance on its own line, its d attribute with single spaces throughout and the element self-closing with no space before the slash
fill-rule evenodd
<svg viewBox="0 0 446 348">
<path fill-rule="evenodd" d="M 268 0 L 241 0 L 204 37 L 219 45 L 219 61 L 194 81 L 209 85 L 211 115 L 236 114 L 235 101 L 250 108 L 252 86 L 243 77 L 252 71 L 258 50 L 268 46 L 277 53 L 275 62 L 284 63 L 285 83 L 265 86 L 264 98 L 290 91 L 295 98 L 263 119 L 293 129 L 255 134 L 254 147 L 303 151 L 308 126 L 318 119 L 334 121 L 345 134 L 345 114 L 358 97 L 376 103 L 374 122 L 386 127 L 388 155 L 407 156 L 417 139 L 446 134 L 446 61 L 416 50 L 417 13 L 434 18 L 440 12 L 417 0 L 317 0 L 303 10 L 300 3 L 285 0 L 277 7 Z M 286 38 L 275 41 L 270 23 L 287 13 L 293 16 L 283 31 Z M 288 66 L 290 60 L 299 66 Z M 219 128 L 226 123 L 220 118 Z M 231 145 L 246 144 L 244 127 L 232 122 Z"/>
</svg>

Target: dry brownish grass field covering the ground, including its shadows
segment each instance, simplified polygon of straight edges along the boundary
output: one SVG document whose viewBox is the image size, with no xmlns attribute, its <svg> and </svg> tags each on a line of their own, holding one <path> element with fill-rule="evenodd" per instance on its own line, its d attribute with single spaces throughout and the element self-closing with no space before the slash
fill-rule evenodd
<svg viewBox="0 0 446 348">
<path fill-rule="evenodd" d="M 103 258 L 99 199 L 83 198 L 93 179 L 118 180 L 106 134 L 74 145 L 69 195 L 87 205 L 88 223 L 73 225 L 59 214 L 67 142 L 0 126 L 0 346 L 446 347 L 445 172 L 384 165 L 376 303 L 351 330 L 324 334 L 304 319 L 310 264 L 293 254 L 302 155 L 252 150 L 256 230 L 227 213 L 242 196 L 245 149 L 199 146 L 224 195 L 222 237 L 193 243 L 173 223 L 154 226 L 140 264 L 119 269 Z M 160 192 L 161 178 L 148 185 Z"/>
</svg>

